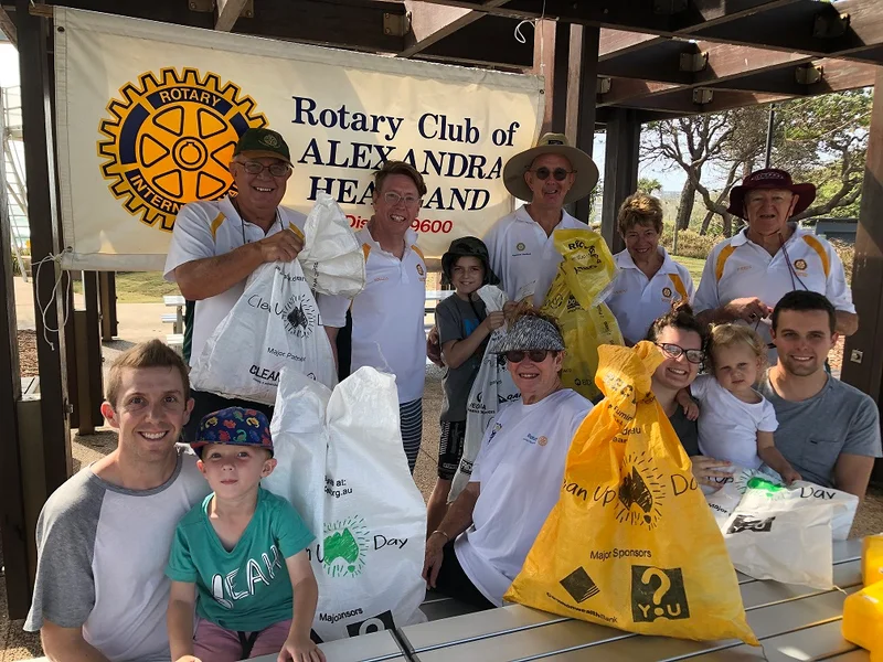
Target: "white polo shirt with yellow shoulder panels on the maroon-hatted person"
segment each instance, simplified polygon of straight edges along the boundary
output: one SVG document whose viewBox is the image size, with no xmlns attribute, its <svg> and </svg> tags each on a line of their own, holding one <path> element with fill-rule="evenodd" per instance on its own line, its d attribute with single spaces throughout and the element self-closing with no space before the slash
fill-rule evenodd
<svg viewBox="0 0 883 662">
<path fill-rule="evenodd" d="M 746 228 L 712 249 L 696 290 L 695 309 L 720 308 L 744 297 L 757 297 L 774 308 L 794 290 L 825 295 L 834 309 L 855 312 L 843 263 L 825 238 L 795 226 L 785 245 L 769 255 L 748 239 Z M 766 320 L 757 332 L 765 342 L 772 342 Z M 775 350 L 770 350 L 769 360 L 776 360 Z"/>
</svg>

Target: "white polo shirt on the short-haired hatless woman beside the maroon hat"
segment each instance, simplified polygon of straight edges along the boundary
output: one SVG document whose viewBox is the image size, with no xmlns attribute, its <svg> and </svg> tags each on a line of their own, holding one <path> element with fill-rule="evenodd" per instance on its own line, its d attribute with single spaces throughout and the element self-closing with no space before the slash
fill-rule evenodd
<svg viewBox="0 0 883 662">
<path fill-rule="evenodd" d="M 679 265 L 660 246 L 662 266 L 647 278 L 628 250 L 614 256 L 619 267 L 610 296 L 606 299 L 623 337 L 632 344 L 643 340 L 650 324 L 671 310 L 678 301 L 693 300 L 693 279 L 687 267 Z"/>
</svg>

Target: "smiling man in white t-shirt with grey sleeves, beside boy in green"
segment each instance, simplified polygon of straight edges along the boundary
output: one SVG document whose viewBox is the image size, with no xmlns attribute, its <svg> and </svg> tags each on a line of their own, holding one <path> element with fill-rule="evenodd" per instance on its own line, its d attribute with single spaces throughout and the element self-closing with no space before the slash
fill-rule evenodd
<svg viewBox="0 0 883 662">
<path fill-rule="evenodd" d="M 36 525 L 24 629 L 51 660 L 169 661 L 163 570 L 178 521 L 209 492 L 175 447 L 192 408 L 187 367 L 160 341 L 111 366 L 102 414 L 119 444 L 61 485 Z"/>
</svg>

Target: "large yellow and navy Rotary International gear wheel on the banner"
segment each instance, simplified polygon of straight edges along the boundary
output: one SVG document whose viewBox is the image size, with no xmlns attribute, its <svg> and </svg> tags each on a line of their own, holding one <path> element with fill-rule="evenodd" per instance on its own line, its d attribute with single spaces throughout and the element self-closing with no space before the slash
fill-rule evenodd
<svg viewBox="0 0 883 662">
<path fill-rule="evenodd" d="M 245 129 L 266 126 L 249 96 L 215 74 L 172 67 L 127 83 L 107 106 L 98 130 L 104 178 L 126 210 L 147 225 L 171 232 L 188 202 L 217 200 L 233 186 L 227 164 Z"/>
</svg>

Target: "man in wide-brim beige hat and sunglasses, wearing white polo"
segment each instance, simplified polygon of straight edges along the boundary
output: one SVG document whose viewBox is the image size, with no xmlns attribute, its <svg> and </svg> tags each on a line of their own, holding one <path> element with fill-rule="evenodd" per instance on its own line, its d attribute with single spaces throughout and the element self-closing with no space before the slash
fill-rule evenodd
<svg viewBox="0 0 883 662">
<path fill-rule="evenodd" d="M 592 192 L 598 168 L 586 152 L 571 147 L 564 135 L 545 134 L 536 147 L 509 159 L 503 182 L 528 204 L 497 221 L 485 236 L 491 269 L 510 300 L 532 297 L 539 307 L 562 260 L 552 233 L 585 228 L 564 205 Z"/>
</svg>

